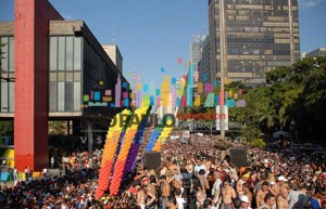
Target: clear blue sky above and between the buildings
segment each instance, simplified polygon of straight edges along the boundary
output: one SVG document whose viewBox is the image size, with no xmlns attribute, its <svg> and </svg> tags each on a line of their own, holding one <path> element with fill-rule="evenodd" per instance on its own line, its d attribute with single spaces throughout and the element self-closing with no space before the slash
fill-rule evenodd
<svg viewBox="0 0 326 209">
<path fill-rule="evenodd" d="M 0 0 L 0 21 L 13 19 L 13 0 Z M 189 60 L 192 35 L 209 30 L 208 0 L 50 0 L 66 19 L 84 19 L 100 43 L 113 35 L 140 82 L 180 77 Z M 301 52 L 326 47 L 326 0 L 299 0 Z M 178 63 L 183 58 L 183 64 Z M 161 68 L 164 68 L 164 73 Z M 156 87 L 158 87 L 156 84 Z"/>
</svg>

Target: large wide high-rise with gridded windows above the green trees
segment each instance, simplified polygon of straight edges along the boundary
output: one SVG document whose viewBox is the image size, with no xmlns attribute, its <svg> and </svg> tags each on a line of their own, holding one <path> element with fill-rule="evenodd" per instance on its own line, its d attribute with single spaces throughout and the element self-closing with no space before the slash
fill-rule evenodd
<svg viewBox="0 0 326 209">
<path fill-rule="evenodd" d="M 300 57 L 298 22 L 298 0 L 209 0 L 211 70 L 264 82 L 266 71 Z"/>
</svg>

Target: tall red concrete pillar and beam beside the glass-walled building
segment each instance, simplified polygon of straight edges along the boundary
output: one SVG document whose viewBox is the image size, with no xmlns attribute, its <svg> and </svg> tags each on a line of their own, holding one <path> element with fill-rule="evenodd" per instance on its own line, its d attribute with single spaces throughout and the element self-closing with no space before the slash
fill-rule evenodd
<svg viewBox="0 0 326 209">
<path fill-rule="evenodd" d="M 49 26 L 63 17 L 48 0 L 15 0 L 15 166 L 49 165 Z"/>
</svg>

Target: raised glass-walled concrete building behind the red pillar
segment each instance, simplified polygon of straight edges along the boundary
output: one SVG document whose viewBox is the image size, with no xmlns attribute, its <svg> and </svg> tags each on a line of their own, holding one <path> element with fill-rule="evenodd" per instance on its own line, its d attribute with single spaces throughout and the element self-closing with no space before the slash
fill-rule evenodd
<svg viewBox="0 0 326 209">
<path fill-rule="evenodd" d="M 13 22 L 0 22 L 1 81 L 0 117 L 14 113 L 14 36 Z M 9 31 L 12 31 L 10 34 Z M 120 75 L 121 94 L 115 95 Z M 110 93 L 108 93 L 110 92 Z M 126 93 L 127 92 L 127 93 Z M 129 97 L 130 88 L 101 44 L 83 21 L 51 21 L 49 36 L 49 116 L 76 118 L 112 116 L 118 108 L 116 97 Z M 130 103 L 129 103 L 130 104 Z"/>
</svg>

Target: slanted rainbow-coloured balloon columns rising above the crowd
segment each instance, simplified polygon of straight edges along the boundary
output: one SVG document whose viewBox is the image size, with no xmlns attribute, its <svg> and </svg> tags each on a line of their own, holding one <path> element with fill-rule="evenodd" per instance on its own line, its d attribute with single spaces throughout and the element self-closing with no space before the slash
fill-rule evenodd
<svg viewBox="0 0 326 209">
<path fill-rule="evenodd" d="M 150 110 L 151 106 L 142 106 L 134 112 L 124 109 L 114 116 L 115 122 L 109 127 L 103 148 L 96 198 L 106 191 L 118 195 L 124 175 L 135 169 Z M 167 119 L 165 123 L 167 126 L 160 125 L 152 131 L 147 152 L 161 151 L 173 130 L 172 120 Z"/>
</svg>

